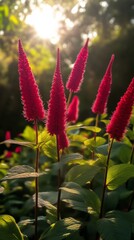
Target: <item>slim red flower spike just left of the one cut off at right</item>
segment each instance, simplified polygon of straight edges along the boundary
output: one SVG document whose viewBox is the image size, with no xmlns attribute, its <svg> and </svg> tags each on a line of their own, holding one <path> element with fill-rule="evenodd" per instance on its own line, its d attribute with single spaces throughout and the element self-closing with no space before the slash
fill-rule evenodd
<svg viewBox="0 0 134 240">
<path fill-rule="evenodd" d="M 109 65 L 104 74 L 104 77 L 98 88 L 98 93 L 96 99 L 92 105 L 92 112 L 97 114 L 106 113 L 106 106 L 108 102 L 108 97 L 110 94 L 111 84 L 112 84 L 112 65 L 114 62 L 114 55 L 111 56 Z"/>
</svg>

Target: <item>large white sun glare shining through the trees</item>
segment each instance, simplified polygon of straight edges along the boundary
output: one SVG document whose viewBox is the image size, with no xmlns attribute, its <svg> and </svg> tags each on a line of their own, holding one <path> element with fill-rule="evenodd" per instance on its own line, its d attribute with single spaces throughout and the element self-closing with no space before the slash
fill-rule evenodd
<svg viewBox="0 0 134 240">
<path fill-rule="evenodd" d="M 43 4 L 40 8 L 33 9 L 27 16 L 26 23 L 32 26 L 40 38 L 48 39 L 56 44 L 59 39 L 59 27 L 62 20 L 62 11 L 56 11 L 48 4 Z"/>
</svg>

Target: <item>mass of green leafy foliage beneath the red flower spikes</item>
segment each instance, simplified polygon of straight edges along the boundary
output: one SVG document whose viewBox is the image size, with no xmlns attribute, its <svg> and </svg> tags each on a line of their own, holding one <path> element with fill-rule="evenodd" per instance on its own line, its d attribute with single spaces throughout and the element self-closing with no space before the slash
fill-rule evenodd
<svg viewBox="0 0 134 240">
<path fill-rule="evenodd" d="M 91 120 L 92 121 L 92 120 Z M 91 122 L 90 119 L 84 122 Z M 39 134 L 40 173 L 38 234 L 43 239 L 96 239 L 97 231 L 102 239 L 130 239 L 133 231 L 133 164 L 130 164 L 133 145 L 129 138 L 115 142 L 111 152 L 107 176 L 107 190 L 103 217 L 99 219 L 103 174 L 106 165 L 107 136 L 97 133 L 100 144 L 89 141 L 99 128 L 90 125 L 68 126 L 70 147 L 57 163 L 54 137 L 46 129 Z M 127 135 L 131 130 L 128 129 Z M 33 167 L 35 130 L 30 126 L 24 129 L 21 138 L 6 140 L 4 143 L 21 144 L 22 151 L 13 156 L 1 156 L 1 216 L 14 216 L 23 235 L 18 239 L 33 239 L 34 180 Z M 76 138 L 72 138 L 75 136 Z M 84 143 L 81 138 L 84 137 Z M 103 141 L 105 139 L 105 141 Z M 29 142 L 28 142 L 29 141 Z M 96 139 L 96 141 L 98 141 Z M 78 144 L 79 143 L 79 144 Z M 27 147 L 29 146 L 29 147 Z M 94 147 L 94 148 L 93 148 Z M 121 149 L 121 150 L 120 150 Z M 126 154 L 126 149 L 128 153 Z M 9 151 L 9 149 L 7 148 Z M 7 151 L 6 150 L 6 151 Z M 95 151 L 96 160 L 92 159 Z M 125 157 L 124 157 L 125 156 Z M 31 167 L 32 166 L 32 167 Z M 61 217 L 56 220 L 57 173 L 61 169 Z M 44 216 L 45 213 L 45 216 Z M 42 223 L 41 223 L 42 222 Z M 2 223 L 0 223 L 1 226 Z M 10 228 L 10 223 L 7 224 Z M 6 234 L 9 230 L 2 230 Z M 14 230 L 18 231 L 18 230 Z M 19 230 L 20 231 L 20 230 Z M 1 230 L 0 230 L 1 232 Z M 16 233 L 17 234 L 17 233 Z M 3 235 L 5 236 L 5 235 Z M 6 235 L 6 238 L 8 236 Z M 8 239 L 10 238 L 10 234 Z M 2 239 L 4 240 L 4 238 Z"/>
</svg>

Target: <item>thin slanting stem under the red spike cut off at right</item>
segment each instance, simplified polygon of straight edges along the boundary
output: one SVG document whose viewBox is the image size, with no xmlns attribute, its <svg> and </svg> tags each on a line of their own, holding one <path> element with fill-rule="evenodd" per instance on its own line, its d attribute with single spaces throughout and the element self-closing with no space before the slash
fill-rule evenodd
<svg viewBox="0 0 134 240">
<path fill-rule="evenodd" d="M 108 149 L 108 156 L 107 156 L 107 162 L 106 162 L 106 168 L 105 168 L 105 175 L 104 175 L 104 182 L 103 182 L 103 190 L 102 190 L 101 207 L 100 207 L 100 215 L 99 215 L 99 218 L 102 218 L 102 216 L 103 216 L 104 200 L 105 200 L 105 191 L 106 191 L 107 172 L 108 172 L 108 166 L 109 166 L 109 160 L 110 160 L 110 154 L 111 154 L 111 149 L 112 149 L 113 141 L 114 141 L 114 139 L 112 139 L 112 141 L 110 142 L 109 149 Z"/>
</svg>

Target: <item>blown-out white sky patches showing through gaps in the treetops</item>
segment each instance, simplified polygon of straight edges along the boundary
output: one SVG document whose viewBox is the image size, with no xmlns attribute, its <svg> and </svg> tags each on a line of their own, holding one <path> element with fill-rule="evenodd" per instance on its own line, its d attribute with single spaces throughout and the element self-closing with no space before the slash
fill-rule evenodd
<svg viewBox="0 0 134 240">
<path fill-rule="evenodd" d="M 81 12 L 85 11 L 87 0 L 78 0 L 78 3 L 72 8 L 71 13 L 76 14 L 80 7 Z M 105 5 L 105 1 L 102 1 Z M 80 10 L 79 9 L 79 10 Z M 60 21 L 64 21 L 67 29 L 72 29 L 74 23 L 66 18 L 64 15 L 64 9 L 60 5 L 51 7 L 49 4 L 40 4 L 40 7 L 33 7 L 33 11 L 26 18 L 26 23 L 31 25 L 37 35 L 40 38 L 49 40 L 52 44 L 58 43 L 60 40 L 59 28 Z M 88 34 L 82 34 L 83 38 L 89 37 L 94 39 L 97 36 L 97 32 L 89 32 Z"/>
</svg>

